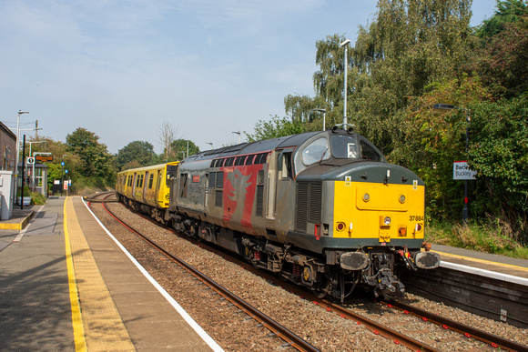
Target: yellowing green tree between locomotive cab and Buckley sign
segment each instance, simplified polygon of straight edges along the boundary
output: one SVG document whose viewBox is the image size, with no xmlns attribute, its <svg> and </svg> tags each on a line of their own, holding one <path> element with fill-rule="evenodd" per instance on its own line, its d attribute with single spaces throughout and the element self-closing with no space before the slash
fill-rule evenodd
<svg viewBox="0 0 528 352">
<path fill-rule="evenodd" d="M 468 111 L 490 98 L 478 78 L 462 76 L 429 85 L 423 96 L 412 99 L 400 111 L 399 128 L 405 138 L 395 141 L 388 159 L 411 168 L 425 182 L 428 214 L 436 218 L 459 218 L 463 185 L 452 180 L 452 162 L 467 160 L 465 131 Z M 435 104 L 458 106 L 458 110 L 435 110 Z M 471 114 L 473 115 L 473 113 Z"/>
</svg>

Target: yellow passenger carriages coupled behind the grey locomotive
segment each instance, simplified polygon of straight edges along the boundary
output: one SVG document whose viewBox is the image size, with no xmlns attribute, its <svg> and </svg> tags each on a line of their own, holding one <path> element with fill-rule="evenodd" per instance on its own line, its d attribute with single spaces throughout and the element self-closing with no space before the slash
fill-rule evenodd
<svg viewBox="0 0 528 352">
<path fill-rule="evenodd" d="M 170 180 L 176 176 L 178 161 L 138 167 L 117 174 L 117 198 L 133 209 L 165 223 Z"/>
</svg>

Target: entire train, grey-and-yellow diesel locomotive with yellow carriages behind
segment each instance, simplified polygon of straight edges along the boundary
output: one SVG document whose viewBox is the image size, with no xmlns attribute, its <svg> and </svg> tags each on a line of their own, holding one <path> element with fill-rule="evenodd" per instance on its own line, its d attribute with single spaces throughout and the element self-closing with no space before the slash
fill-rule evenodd
<svg viewBox="0 0 528 352">
<path fill-rule="evenodd" d="M 432 269 L 424 184 L 352 129 L 226 146 L 123 171 L 119 200 L 255 267 L 341 301 L 400 298 L 401 270 Z"/>
</svg>

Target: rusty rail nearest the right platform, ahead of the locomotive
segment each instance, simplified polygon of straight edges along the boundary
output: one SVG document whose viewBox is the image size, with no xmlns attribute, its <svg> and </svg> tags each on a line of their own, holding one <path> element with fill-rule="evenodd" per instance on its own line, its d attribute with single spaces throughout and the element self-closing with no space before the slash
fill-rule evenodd
<svg viewBox="0 0 528 352">
<path fill-rule="evenodd" d="M 459 323 L 447 317 L 438 316 L 419 307 L 413 307 L 411 305 L 398 301 L 391 301 L 391 303 L 381 301 L 381 303 L 386 304 L 388 307 L 394 307 L 396 309 L 399 309 L 406 314 L 411 314 L 415 317 L 421 317 L 423 320 L 430 321 L 434 324 L 442 326 L 445 329 L 450 329 L 459 332 L 465 337 L 472 337 L 495 348 L 500 347 L 501 349 L 506 351 L 528 351 L 528 347 L 521 345 L 515 341 L 508 340 L 503 337 L 498 337 L 496 335 L 480 330 L 476 327 L 469 327 L 465 324 Z"/>
</svg>

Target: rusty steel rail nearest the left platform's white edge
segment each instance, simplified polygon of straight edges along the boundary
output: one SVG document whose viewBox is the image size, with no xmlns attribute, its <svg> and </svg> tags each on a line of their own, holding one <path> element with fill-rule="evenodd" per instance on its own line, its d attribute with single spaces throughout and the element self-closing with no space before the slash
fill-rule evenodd
<svg viewBox="0 0 528 352">
<path fill-rule="evenodd" d="M 206 284 L 208 287 L 214 289 L 216 292 L 218 292 L 219 295 L 221 295 L 222 297 L 225 297 L 234 306 L 239 307 L 239 309 L 242 312 L 248 314 L 249 317 L 252 317 L 256 321 L 258 321 L 260 326 L 267 327 L 271 331 L 272 335 L 278 336 L 281 339 L 283 339 L 286 342 L 285 345 L 294 347 L 300 351 L 307 351 L 307 352 L 320 351 L 317 347 L 310 345 L 308 341 L 297 336 L 293 332 L 289 331 L 288 328 L 281 326 L 278 322 L 273 320 L 271 317 L 268 317 L 264 313 L 260 312 L 259 309 L 252 307 L 244 299 L 236 296 L 235 294 L 230 292 L 227 288 L 222 287 L 217 282 L 207 277 L 205 274 L 201 273 L 197 268 L 190 266 L 184 260 L 178 258 L 178 256 L 174 256 L 172 253 L 168 252 L 168 250 L 166 250 L 162 246 L 157 245 L 155 241 L 141 234 L 135 228 L 125 224 L 121 219 L 118 218 L 118 216 L 116 216 L 115 213 L 113 213 L 110 209 L 107 208 L 107 206 L 105 206 L 105 201 L 102 202 L 102 206 L 105 208 L 105 210 L 107 210 L 108 214 L 113 216 L 121 225 L 127 227 L 127 229 L 129 229 L 134 234 L 136 234 L 141 239 L 143 239 L 145 242 L 147 242 L 148 245 L 153 246 L 159 252 L 163 253 L 165 256 L 167 256 L 172 261 L 177 263 L 178 266 L 183 267 L 186 270 L 188 270 L 188 272 L 191 273 L 194 277 L 197 277 L 201 282 Z"/>
</svg>

